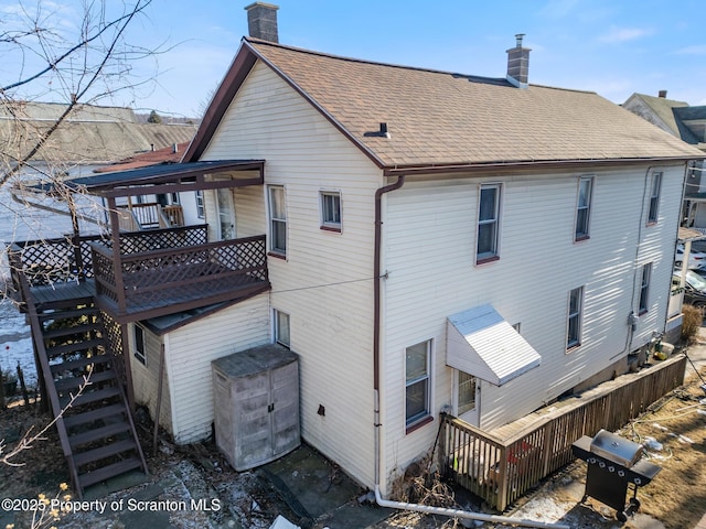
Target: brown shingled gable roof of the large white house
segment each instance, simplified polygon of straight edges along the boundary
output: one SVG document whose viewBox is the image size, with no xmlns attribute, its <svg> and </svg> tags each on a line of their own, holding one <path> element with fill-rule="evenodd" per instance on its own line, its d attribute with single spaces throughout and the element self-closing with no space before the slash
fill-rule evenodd
<svg viewBox="0 0 706 529">
<path fill-rule="evenodd" d="M 698 158 L 590 91 L 438 72 L 245 37 L 185 161 L 203 152 L 237 88 L 263 61 L 381 168 Z M 381 133 L 386 123 L 388 134 Z"/>
</svg>

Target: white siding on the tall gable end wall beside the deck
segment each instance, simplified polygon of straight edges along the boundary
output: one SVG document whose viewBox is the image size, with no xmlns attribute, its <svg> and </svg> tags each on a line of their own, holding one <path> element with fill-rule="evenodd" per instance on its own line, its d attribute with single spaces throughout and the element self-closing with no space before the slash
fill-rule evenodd
<svg viewBox="0 0 706 529">
<path fill-rule="evenodd" d="M 267 161 L 264 186 L 235 192 L 239 237 L 269 231 L 267 188 L 285 186 L 287 261 L 268 258 L 269 300 L 270 307 L 291 315 L 291 350 L 301 368 L 302 438 L 372 486 L 374 430 L 365 410 L 373 410 L 371 272 L 375 191 L 386 183 L 381 171 L 261 63 L 202 159 Z M 321 229 L 321 191 L 345 197 L 345 227 L 335 237 Z M 317 413 L 319 406 L 325 417 Z"/>
</svg>

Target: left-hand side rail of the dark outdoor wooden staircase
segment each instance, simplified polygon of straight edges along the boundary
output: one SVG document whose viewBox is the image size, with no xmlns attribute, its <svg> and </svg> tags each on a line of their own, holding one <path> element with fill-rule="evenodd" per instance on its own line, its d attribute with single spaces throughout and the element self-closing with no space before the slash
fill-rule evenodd
<svg viewBox="0 0 706 529">
<path fill-rule="evenodd" d="M 66 408 L 62 408 L 61 402 L 58 401 L 58 393 L 56 392 L 56 386 L 54 385 L 55 382 L 52 378 L 52 369 L 49 365 L 49 355 L 46 354 L 46 348 L 44 347 L 42 324 L 36 313 L 34 300 L 30 292 L 30 283 L 28 282 L 26 277 L 24 276 L 24 273 L 22 273 L 22 271 L 18 273 L 18 278 L 20 280 L 20 289 L 22 290 L 22 299 L 24 300 L 28 316 L 30 319 L 30 328 L 32 330 L 32 342 L 34 343 L 34 350 L 36 352 L 36 357 L 39 358 L 40 367 L 42 370 L 44 391 L 49 397 L 50 403 L 52 404 L 52 412 L 54 414 L 56 431 L 58 432 L 58 439 L 62 445 L 62 451 L 64 452 L 64 456 L 66 457 L 66 460 L 68 460 L 68 468 L 71 471 L 74 489 L 78 490 L 81 487 L 78 483 L 78 473 L 76 471 L 76 465 L 74 464 L 74 454 L 71 450 L 71 444 L 68 443 L 68 432 L 66 431 L 66 424 L 64 424 L 64 412 L 71 407 L 71 402 Z"/>
</svg>

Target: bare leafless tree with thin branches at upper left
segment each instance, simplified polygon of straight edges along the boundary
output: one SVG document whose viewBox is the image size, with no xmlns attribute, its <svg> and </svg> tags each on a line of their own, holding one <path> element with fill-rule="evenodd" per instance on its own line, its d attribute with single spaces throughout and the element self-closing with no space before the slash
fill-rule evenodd
<svg viewBox="0 0 706 529">
<path fill-rule="evenodd" d="M 62 188 L 73 165 L 85 159 L 63 134 L 76 116 L 96 112 L 96 105 L 130 100 L 153 86 L 157 54 L 131 42 L 147 20 L 152 0 L 81 0 L 66 4 L 20 0 L 0 11 L 0 240 L 17 240 L 11 226 L 41 239 L 46 226 L 28 222 L 30 206 L 82 216 L 72 193 Z M 142 67 L 151 66 L 147 74 Z M 139 67 L 138 67 L 139 65 Z M 60 105 L 44 105 L 44 102 Z M 38 116 L 38 108 L 42 115 Z M 38 119 L 41 118 L 41 119 Z M 95 118 L 93 118 L 95 119 Z M 72 152 L 72 148 L 74 149 Z M 31 183 L 50 183 L 54 201 L 29 193 Z M 86 215 L 100 216 L 101 204 L 84 199 Z M 19 204 L 18 204 L 19 203 Z M 44 222 L 44 224 L 46 224 Z M 66 222 L 64 222 L 64 225 Z M 0 248 L 7 251 L 4 245 Z M 0 270 L 0 277 L 2 270 Z M 2 279 L 2 278 L 0 278 Z M 2 298 L 0 288 L 0 299 Z"/>
</svg>

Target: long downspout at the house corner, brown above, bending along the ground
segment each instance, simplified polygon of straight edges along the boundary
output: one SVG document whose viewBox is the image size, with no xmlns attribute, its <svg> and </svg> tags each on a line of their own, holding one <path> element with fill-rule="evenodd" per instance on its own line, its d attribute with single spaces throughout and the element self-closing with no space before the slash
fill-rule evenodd
<svg viewBox="0 0 706 529">
<path fill-rule="evenodd" d="M 379 333 L 381 333 L 381 258 L 383 246 L 383 207 L 382 199 L 385 193 L 399 190 L 405 185 L 405 175 L 402 174 L 397 177 L 397 182 L 391 185 L 385 185 L 375 191 L 375 256 L 374 256 L 374 272 L 373 272 L 373 390 L 374 390 L 374 425 L 375 425 L 375 501 L 381 507 L 387 507 L 391 509 L 411 510 L 415 512 L 424 512 L 428 515 L 448 516 L 452 518 L 466 518 L 470 520 L 492 521 L 496 523 L 507 523 L 522 527 L 538 527 L 538 528 L 556 528 L 556 529 L 570 529 L 569 526 L 560 523 L 548 523 L 542 521 L 524 520 L 520 518 L 510 518 L 498 515 L 485 515 L 482 512 L 472 512 L 469 510 L 448 509 L 445 507 L 432 507 L 420 504 L 407 504 L 404 501 L 392 501 L 383 499 L 379 492 L 379 474 L 381 474 L 381 422 L 379 422 Z"/>
</svg>

